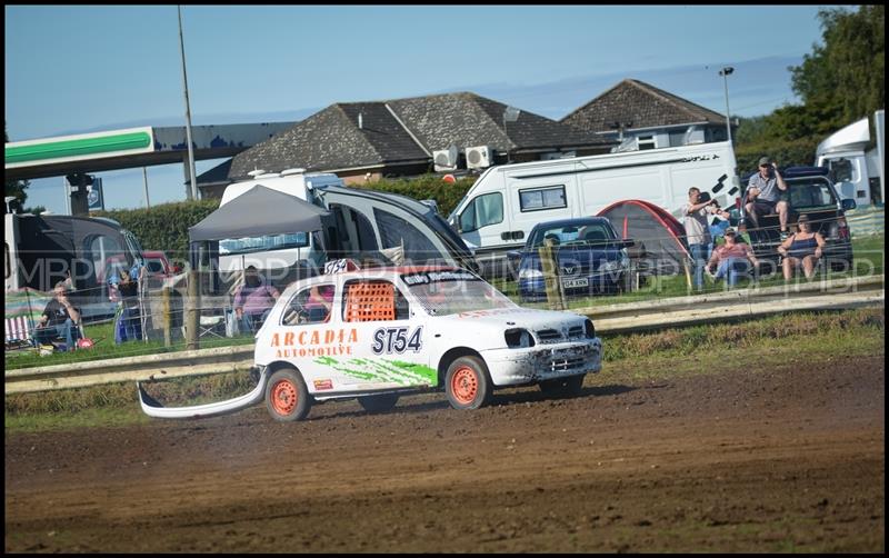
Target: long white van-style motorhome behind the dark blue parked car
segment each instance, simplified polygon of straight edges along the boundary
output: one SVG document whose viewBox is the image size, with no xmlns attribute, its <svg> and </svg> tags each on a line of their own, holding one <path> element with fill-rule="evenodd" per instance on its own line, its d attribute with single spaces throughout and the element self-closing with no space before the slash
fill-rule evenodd
<svg viewBox="0 0 889 558">
<path fill-rule="evenodd" d="M 486 276 L 506 272 L 506 252 L 520 248 L 535 225 L 590 217 L 618 200 L 640 199 L 680 217 L 688 189 L 720 206 L 739 192 L 730 142 L 501 165 L 486 170 L 448 222 Z"/>
</svg>

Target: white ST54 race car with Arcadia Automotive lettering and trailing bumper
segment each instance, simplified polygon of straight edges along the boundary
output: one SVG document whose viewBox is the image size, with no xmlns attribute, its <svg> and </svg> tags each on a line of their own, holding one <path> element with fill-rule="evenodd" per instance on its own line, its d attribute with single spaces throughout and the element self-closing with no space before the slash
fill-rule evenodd
<svg viewBox="0 0 889 558">
<path fill-rule="evenodd" d="M 377 268 L 284 290 L 256 335 L 251 392 L 167 408 L 138 389 L 142 410 L 159 418 L 222 415 L 264 399 L 272 417 L 291 421 L 313 401 L 358 398 L 381 411 L 402 393 L 442 387 L 452 407 L 477 409 L 506 386 L 576 393 L 601 369 L 601 353 L 589 318 L 521 308 L 470 271 Z"/>
</svg>

